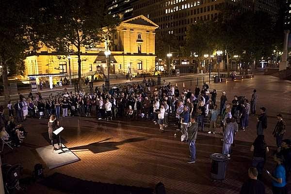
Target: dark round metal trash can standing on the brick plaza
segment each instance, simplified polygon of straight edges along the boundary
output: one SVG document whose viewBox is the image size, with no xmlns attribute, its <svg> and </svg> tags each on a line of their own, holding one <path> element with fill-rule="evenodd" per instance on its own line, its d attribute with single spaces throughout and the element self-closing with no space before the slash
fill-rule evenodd
<svg viewBox="0 0 291 194">
<path fill-rule="evenodd" d="M 224 180 L 226 178 L 226 167 L 228 159 L 223 154 L 211 154 L 210 176 L 215 180 Z"/>
</svg>

